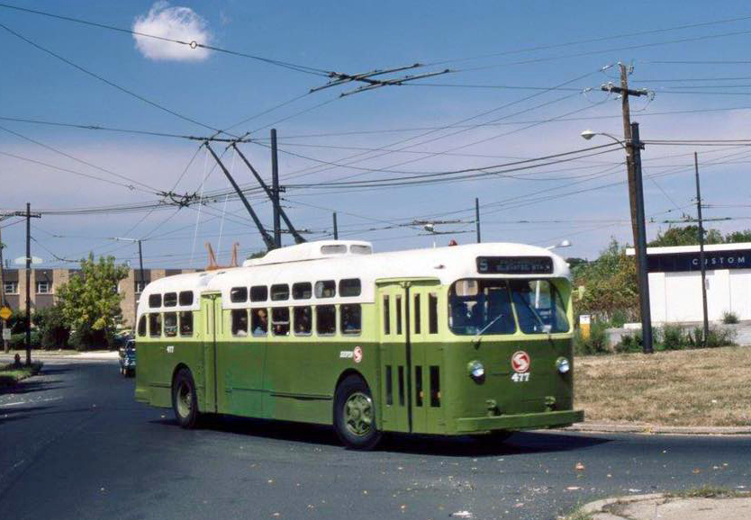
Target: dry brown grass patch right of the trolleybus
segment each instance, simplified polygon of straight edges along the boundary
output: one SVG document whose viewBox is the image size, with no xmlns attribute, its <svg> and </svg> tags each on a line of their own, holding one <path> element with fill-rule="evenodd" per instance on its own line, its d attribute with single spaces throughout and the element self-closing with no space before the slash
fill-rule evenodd
<svg viewBox="0 0 751 520">
<path fill-rule="evenodd" d="M 751 426 L 751 348 L 576 358 L 576 407 L 588 421 Z"/>
</svg>

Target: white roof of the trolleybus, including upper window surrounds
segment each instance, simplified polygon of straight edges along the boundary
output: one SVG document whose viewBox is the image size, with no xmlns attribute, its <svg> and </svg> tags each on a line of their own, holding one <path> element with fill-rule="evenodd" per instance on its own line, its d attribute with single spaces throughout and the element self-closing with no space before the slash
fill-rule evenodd
<svg viewBox="0 0 751 520">
<path fill-rule="evenodd" d="M 360 247 L 360 253 L 322 255 L 321 247 L 331 245 Z M 266 256 L 246 261 L 242 267 L 232 267 L 203 273 L 185 273 L 160 278 L 144 289 L 139 303 L 139 314 L 146 311 L 149 294 L 194 291 L 194 303 L 189 307 L 170 309 L 198 309 L 199 294 L 205 291 L 222 292 L 224 308 L 247 307 L 247 302 L 231 303 L 233 287 L 253 285 L 270 286 L 275 283 L 339 281 L 359 278 L 362 293 L 357 298 L 326 298 L 327 303 L 342 301 L 373 301 L 375 282 L 388 278 L 435 278 L 442 284 L 461 278 L 498 277 L 499 274 L 477 273 L 477 256 L 548 256 L 553 259 L 553 273 L 545 275 L 503 274 L 503 277 L 529 278 L 530 276 L 568 277 L 568 264 L 560 256 L 543 247 L 511 243 L 468 244 L 464 246 L 411 249 L 389 253 L 367 254 L 362 247 L 367 242 L 350 240 L 323 240 L 270 251 Z M 345 248 L 345 251 L 349 251 Z M 315 300 L 314 298 L 312 300 Z M 303 303 L 303 300 L 298 300 Z M 310 301 L 310 300 L 309 300 Z M 289 300 L 269 301 L 268 305 L 289 305 Z"/>
</svg>

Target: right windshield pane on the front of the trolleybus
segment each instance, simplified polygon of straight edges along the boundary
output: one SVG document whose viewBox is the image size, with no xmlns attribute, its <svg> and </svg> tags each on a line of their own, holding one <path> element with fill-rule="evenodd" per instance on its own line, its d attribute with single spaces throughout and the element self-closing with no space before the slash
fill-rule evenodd
<svg viewBox="0 0 751 520">
<path fill-rule="evenodd" d="M 555 285 L 547 280 L 511 280 L 509 285 L 524 334 L 568 332 L 566 306 Z"/>
</svg>

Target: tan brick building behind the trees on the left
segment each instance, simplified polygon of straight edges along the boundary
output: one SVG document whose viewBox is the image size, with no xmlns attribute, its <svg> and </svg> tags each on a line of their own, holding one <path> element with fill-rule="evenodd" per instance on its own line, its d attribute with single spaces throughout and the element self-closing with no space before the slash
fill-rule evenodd
<svg viewBox="0 0 751 520">
<path fill-rule="evenodd" d="M 143 281 L 140 270 L 131 269 L 128 277 L 117 286 L 122 294 L 120 308 L 125 327 L 133 327 L 136 321 L 136 309 L 140 299 L 140 292 L 151 281 L 180 273 L 195 273 L 196 269 L 144 269 Z M 77 269 L 32 269 L 30 300 L 32 312 L 34 309 L 45 309 L 55 304 L 55 294 L 59 287 L 67 283 L 71 276 L 76 276 Z M 26 270 L 4 269 L 3 288 L 5 304 L 15 311 L 26 309 Z"/>
</svg>

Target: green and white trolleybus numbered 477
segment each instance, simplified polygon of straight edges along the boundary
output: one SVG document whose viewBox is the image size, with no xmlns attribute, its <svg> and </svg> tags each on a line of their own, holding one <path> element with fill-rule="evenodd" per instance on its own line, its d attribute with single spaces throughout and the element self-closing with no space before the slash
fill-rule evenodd
<svg viewBox="0 0 751 520">
<path fill-rule="evenodd" d="M 344 240 L 168 276 L 141 294 L 136 399 L 184 427 L 214 413 L 333 424 L 355 448 L 571 425 L 568 276 L 540 247 Z"/>
</svg>

